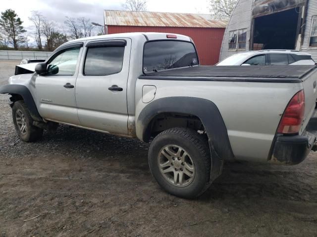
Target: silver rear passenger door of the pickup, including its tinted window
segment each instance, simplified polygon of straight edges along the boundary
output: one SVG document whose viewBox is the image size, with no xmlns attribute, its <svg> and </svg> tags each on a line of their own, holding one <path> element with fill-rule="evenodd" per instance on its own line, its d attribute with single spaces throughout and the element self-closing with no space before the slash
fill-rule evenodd
<svg viewBox="0 0 317 237">
<path fill-rule="evenodd" d="M 128 134 L 127 79 L 130 50 L 130 39 L 86 43 L 76 81 L 76 102 L 81 126 Z"/>
</svg>

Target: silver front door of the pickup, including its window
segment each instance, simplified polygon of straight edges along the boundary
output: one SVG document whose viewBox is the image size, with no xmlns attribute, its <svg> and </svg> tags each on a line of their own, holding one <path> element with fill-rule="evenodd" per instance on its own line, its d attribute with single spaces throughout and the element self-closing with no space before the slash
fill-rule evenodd
<svg viewBox="0 0 317 237">
<path fill-rule="evenodd" d="M 82 44 L 56 52 L 48 61 L 48 73 L 35 79 L 38 110 L 47 120 L 79 125 L 75 85 Z"/>
</svg>

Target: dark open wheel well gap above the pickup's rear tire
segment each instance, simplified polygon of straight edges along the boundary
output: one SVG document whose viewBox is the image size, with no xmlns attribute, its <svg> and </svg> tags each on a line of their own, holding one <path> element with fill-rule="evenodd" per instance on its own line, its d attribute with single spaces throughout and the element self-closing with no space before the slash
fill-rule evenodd
<svg viewBox="0 0 317 237">
<path fill-rule="evenodd" d="M 201 119 L 197 116 L 182 113 L 161 113 L 152 118 L 146 129 L 146 137 L 149 139 L 150 137 L 156 137 L 160 132 L 173 127 L 185 127 L 195 131 L 205 131 Z"/>
</svg>

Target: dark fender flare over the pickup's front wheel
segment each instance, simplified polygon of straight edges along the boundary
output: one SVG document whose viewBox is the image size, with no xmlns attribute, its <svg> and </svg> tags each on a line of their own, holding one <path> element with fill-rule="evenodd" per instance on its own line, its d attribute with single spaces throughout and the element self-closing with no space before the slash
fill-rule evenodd
<svg viewBox="0 0 317 237">
<path fill-rule="evenodd" d="M 22 96 L 24 103 L 27 105 L 31 117 L 35 121 L 42 122 L 39 111 L 34 102 L 33 96 L 30 90 L 25 85 L 3 85 L 0 86 L 0 94 L 20 95 Z"/>
</svg>

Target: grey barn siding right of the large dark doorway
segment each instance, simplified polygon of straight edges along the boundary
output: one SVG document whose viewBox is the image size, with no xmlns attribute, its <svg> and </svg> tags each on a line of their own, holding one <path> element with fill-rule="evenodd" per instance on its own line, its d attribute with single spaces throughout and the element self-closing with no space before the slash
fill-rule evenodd
<svg viewBox="0 0 317 237">
<path fill-rule="evenodd" d="M 306 17 L 305 33 L 304 33 L 304 40 L 303 40 L 303 45 L 301 47 L 301 51 L 311 54 L 315 62 L 317 62 L 317 47 L 309 47 L 312 19 L 313 19 L 313 16 L 317 15 L 316 0 L 309 0 L 307 9 L 308 11 L 307 11 L 307 17 Z"/>
</svg>

